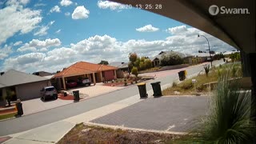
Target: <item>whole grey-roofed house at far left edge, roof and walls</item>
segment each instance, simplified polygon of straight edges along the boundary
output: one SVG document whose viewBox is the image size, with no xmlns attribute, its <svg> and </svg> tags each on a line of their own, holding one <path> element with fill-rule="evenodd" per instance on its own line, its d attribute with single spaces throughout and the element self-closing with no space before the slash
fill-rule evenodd
<svg viewBox="0 0 256 144">
<path fill-rule="evenodd" d="M 0 76 L 0 97 L 6 97 L 6 90 L 10 90 L 14 94 L 13 101 L 17 98 L 21 100 L 40 98 L 40 90 L 44 86 L 51 86 L 49 78 L 9 70 Z"/>
</svg>

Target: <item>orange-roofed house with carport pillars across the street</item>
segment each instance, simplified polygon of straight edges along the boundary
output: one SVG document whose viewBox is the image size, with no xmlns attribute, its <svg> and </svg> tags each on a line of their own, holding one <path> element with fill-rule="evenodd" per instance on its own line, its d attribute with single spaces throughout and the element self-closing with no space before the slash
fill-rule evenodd
<svg viewBox="0 0 256 144">
<path fill-rule="evenodd" d="M 52 80 L 57 83 L 58 89 L 66 90 L 66 82 L 78 78 L 90 78 L 91 82 L 110 81 L 117 78 L 117 67 L 94 64 L 90 62 L 76 62 L 54 75 Z"/>
</svg>

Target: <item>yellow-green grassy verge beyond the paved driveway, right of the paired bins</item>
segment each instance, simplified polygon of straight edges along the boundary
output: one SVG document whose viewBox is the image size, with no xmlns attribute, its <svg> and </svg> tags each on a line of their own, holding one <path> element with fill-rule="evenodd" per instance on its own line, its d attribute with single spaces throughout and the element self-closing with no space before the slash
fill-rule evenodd
<svg viewBox="0 0 256 144">
<path fill-rule="evenodd" d="M 204 86 L 206 83 L 210 82 L 218 82 L 218 78 L 222 74 L 227 74 L 230 72 L 230 78 L 242 77 L 242 67 L 240 63 L 236 63 L 234 65 L 222 65 L 213 67 L 210 69 L 208 76 L 206 74 L 199 74 L 194 78 L 188 78 L 185 81 L 175 84 L 171 87 L 168 87 L 166 90 L 162 90 L 163 95 L 174 95 L 174 91 L 180 92 L 180 94 L 194 94 L 194 92 L 207 93 L 209 89 L 207 86 Z M 192 83 L 192 79 L 196 79 L 196 90 L 194 90 L 194 84 Z"/>
</svg>

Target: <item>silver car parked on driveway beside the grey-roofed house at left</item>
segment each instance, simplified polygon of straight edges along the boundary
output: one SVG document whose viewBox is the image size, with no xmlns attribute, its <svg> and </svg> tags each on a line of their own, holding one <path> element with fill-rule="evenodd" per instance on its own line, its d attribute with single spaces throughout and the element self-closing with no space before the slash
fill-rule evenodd
<svg viewBox="0 0 256 144">
<path fill-rule="evenodd" d="M 42 90 L 40 90 L 40 92 L 41 92 L 41 98 L 43 101 L 45 101 L 46 98 L 54 98 L 54 99 L 58 98 L 58 93 L 57 93 L 57 90 L 54 88 L 54 86 L 43 87 Z"/>
</svg>

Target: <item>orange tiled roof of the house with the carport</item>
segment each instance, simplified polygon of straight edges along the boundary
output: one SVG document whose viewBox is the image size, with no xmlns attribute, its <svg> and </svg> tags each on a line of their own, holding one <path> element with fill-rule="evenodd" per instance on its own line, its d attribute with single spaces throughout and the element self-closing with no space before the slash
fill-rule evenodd
<svg viewBox="0 0 256 144">
<path fill-rule="evenodd" d="M 114 66 L 106 66 L 106 65 L 99 65 L 90 62 L 76 62 L 74 65 L 69 66 L 65 70 L 62 70 L 58 74 L 54 75 L 54 78 L 60 77 L 68 77 L 73 75 L 79 74 L 91 74 L 97 73 L 99 71 L 106 71 L 106 70 L 117 70 L 117 67 Z"/>
</svg>

